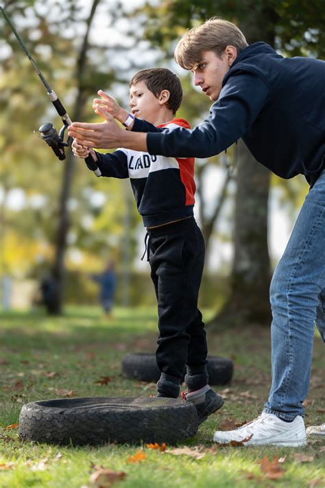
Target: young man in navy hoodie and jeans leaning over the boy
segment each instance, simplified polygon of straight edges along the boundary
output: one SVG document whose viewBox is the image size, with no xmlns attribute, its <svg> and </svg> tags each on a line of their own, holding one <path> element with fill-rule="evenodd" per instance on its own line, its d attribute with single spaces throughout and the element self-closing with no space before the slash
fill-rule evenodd
<svg viewBox="0 0 325 488">
<path fill-rule="evenodd" d="M 325 62 L 283 58 L 262 42 L 248 46 L 243 33 L 221 19 L 186 32 L 176 61 L 193 71 L 195 84 L 215 102 L 196 128 L 138 134 L 137 124 L 125 132 L 106 115 L 106 123 L 75 123 L 71 133 L 92 147 L 123 144 L 178 157 L 219 154 L 242 137 L 257 161 L 278 176 L 306 176 L 311 189 L 270 290 L 269 399 L 256 421 L 214 437 L 220 443 L 252 436 L 245 445 L 304 445 L 302 402 L 315 320 L 323 338 L 325 329 Z"/>
</svg>

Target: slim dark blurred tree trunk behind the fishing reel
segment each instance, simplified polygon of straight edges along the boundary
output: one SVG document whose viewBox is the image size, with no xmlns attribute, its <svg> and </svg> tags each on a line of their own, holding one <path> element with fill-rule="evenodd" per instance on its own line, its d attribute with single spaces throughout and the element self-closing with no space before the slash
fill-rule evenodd
<svg viewBox="0 0 325 488">
<path fill-rule="evenodd" d="M 82 49 L 80 51 L 79 58 L 77 60 L 77 98 L 75 100 L 75 108 L 73 110 L 72 120 L 82 119 L 82 110 L 86 100 L 85 89 L 83 86 L 83 78 L 86 70 L 86 55 L 88 50 L 88 36 L 91 30 L 91 24 L 93 17 L 100 0 L 93 0 L 91 7 L 91 14 L 86 22 L 86 33 L 82 43 Z M 58 315 L 62 312 L 62 303 L 64 295 L 64 255 L 67 249 L 67 235 L 71 226 L 71 220 L 69 217 L 68 200 L 71 194 L 71 187 L 73 182 L 73 170 L 74 170 L 74 157 L 69 150 L 67 159 L 64 160 L 64 170 L 62 175 L 62 187 L 59 198 L 59 217 L 58 217 L 58 230 L 56 233 L 56 255 L 53 262 L 51 277 L 53 279 L 52 296 L 47 303 L 47 312 L 49 314 Z"/>
</svg>

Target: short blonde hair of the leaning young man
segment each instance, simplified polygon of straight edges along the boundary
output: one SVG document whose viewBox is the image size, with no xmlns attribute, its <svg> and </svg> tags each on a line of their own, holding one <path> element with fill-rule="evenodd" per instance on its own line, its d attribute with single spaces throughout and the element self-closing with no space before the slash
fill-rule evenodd
<svg viewBox="0 0 325 488">
<path fill-rule="evenodd" d="M 248 46 L 243 32 L 231 22 L 213 17 L 199 27 L 187 30 L 175 49 L 175 60 L 184 69 L 193 69 L 202 60 L 204 51 L 221 56 L 227 46 L 239 53 Z"/>
</svg>

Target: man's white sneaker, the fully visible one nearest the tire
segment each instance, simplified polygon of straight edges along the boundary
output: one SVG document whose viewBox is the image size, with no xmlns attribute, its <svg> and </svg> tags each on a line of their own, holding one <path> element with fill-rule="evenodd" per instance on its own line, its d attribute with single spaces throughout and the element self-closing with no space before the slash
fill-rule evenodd
<svg viewBox="0 0 325 488">
<path fill-rule="evenodd" d="M 226 444 L 230 441 L 241 442 L 251 436 L 244 445 L 287 445 L 295 448 L 307 443 L 304 419 L 300 415 L 292 422 L 285 422 L 276 415 L 265 412 L 236 430 L 216 430 L 213 441 Z"/>
</svg>

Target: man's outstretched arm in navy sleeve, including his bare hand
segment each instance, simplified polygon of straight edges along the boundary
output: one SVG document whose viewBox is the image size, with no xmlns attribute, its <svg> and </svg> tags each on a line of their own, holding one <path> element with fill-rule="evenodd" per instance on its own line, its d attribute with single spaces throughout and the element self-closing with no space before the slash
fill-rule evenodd
<svg viewBox="0 0 325 488">
<path fill-rule="evenodd" d="M 69 135 L 91 148 L 123 147 L 163 156 L 206 158 L 242 137 L 269 99 L 269 88 L 261 78 L 242 73 L 228 80 L 210 115 L 193 130 L 177 128 L 145 134 L 122 130 L 107 116 L 102 124 L 73 122 Z"/>
</svg>

